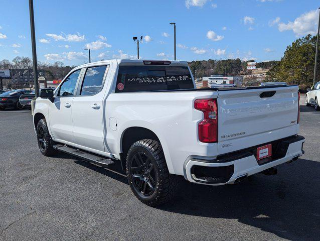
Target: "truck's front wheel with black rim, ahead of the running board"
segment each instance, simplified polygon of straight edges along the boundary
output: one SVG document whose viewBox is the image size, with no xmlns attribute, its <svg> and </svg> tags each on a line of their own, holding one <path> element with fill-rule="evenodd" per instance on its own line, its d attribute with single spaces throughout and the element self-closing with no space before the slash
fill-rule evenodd
<svg viewBox="0 0 320 241">
<path fill-rule="evenodd" d="M 57 153 L 51 146 L 50 138 L 46 119 L 40 119 L 37 124 L 37 141 L 41 154 L 47 157 Z"/>
</svg>

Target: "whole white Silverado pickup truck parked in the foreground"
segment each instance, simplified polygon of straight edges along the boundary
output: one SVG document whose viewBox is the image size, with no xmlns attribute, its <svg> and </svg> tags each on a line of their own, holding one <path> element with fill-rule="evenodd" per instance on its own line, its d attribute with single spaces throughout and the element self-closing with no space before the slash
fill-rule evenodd
<svg viewBox="0 0 320 241">
<path fill-rule="evenodd" d="M 36 100 L 40 151 L 110 166 L 135 196 L 168 201 L 177 176 L 207 185 L 274 173 L 303 154 L 297 86 L 196 89 L 187 62 L 106 60 L 74 68 Z"/>
</svg>

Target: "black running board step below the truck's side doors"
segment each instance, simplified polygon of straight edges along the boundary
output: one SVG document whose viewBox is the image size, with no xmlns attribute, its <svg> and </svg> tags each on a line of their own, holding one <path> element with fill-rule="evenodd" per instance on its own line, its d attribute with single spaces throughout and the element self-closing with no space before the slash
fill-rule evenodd
<svg viewBox="0 0 320 241">
<path fill-rule="evenodd" d="M 92 162 L 101 166 L 110 166 L 114 164 L 114 162 L 111 159 L 106 159 L 106 158 L 103 158 L 85 151 L 80 151 L 79 149 L 68 147 L 65 145 L 56 144 L 56 145 L 53 145 L 52 148 L 57 151 L 70 154 L 72 156 L 78 157 L 80 159 L 84 159 L 88 162 Z"/>
</svg>

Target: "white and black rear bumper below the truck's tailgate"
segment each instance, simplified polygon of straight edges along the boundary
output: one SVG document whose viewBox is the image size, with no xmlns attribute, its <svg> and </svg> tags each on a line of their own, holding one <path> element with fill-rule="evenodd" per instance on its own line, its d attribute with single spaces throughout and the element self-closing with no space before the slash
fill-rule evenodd
<svg viewBox="0 0 320 241">
<path fill-rule="evenodd" d="M 278 153 L 272 155 L 279 158 L 264 164 L 258 163 L 253 151 L 250 153 L 250 150 L 255 147 L 222 157 L 218 156 L 216 160 L 187 159 L 184 164 L 184 176 L 190 182 L 206 185 L 233 184 L 237 179 L 296 160 L 304 153 L 302 150 L 304 141 L 301 136 L 278 140 Z"/>
</svg>

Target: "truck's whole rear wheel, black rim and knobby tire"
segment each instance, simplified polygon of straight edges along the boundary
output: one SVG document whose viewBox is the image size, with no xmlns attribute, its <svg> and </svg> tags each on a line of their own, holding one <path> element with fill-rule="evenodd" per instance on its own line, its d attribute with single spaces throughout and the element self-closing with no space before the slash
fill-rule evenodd
<svg viewBox="0 0 320 241">
<path fill-rule="evenodd" d="M 175 194 L 177 178 L 169 174 L 158 141 L 144 139 L 133 143 L 126 158 L 126 173 L 134 195 L 149 206 L 168 202 Z"/>
</svg>

